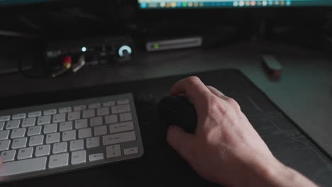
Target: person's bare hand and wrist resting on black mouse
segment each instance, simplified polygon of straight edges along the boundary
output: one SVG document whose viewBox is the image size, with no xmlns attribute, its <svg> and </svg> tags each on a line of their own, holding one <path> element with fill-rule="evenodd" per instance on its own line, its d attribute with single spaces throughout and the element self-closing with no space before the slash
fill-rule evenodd
<svg viewBox="0 0 332 187">
<path fill-rule="evenodd" d="M 172 95 L 192 99 L 197 130 L 192 134 L 170 126 L 167 142 L 207 181 L 227 186 L 315 186 L 279 162 L 233 99 L 199 78 L 183 79 Z"/>
</svg>

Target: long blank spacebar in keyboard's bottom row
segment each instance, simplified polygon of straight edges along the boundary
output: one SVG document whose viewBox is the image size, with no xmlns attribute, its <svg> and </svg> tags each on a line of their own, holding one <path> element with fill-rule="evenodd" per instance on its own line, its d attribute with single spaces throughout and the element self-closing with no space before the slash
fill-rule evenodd
<svg viewBox="0 0 332 187">
<path fill-rule="evenodd" d="M 46 157 L 40 157 L 35 159 L 24 159 L 16 162 L 5 162 L 0 165 L 0 176 L 11 176 L 43 170 L 46 166 L 46 159 Z"/>
</svg>

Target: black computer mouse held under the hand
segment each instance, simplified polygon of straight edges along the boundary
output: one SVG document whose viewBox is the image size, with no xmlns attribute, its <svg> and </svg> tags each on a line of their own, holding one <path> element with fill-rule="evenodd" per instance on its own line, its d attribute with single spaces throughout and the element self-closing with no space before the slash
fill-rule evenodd
<svg viewBox="0 0 332 187">
<path fill-rule="evenodd" d="M 178 125 L 194 133 L 197 127 L 197 113 L 194 104 L 184 96 L 165 96 L 158 104 L 159 121 L 168 128 Z"/>
</svg>

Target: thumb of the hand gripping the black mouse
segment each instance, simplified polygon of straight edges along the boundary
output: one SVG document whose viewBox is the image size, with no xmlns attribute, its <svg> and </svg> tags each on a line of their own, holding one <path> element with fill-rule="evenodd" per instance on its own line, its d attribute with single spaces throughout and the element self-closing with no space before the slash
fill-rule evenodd
<svg viewBox="0 0 332 187">
<path fill-rule="evenodd" d="M 176 125 L 170 126 L 167 132 L 167 142 L 177 151 L 187 162 L 192 161 L 194 149 L 194 135 L 184 132 Z"/>
</svg>

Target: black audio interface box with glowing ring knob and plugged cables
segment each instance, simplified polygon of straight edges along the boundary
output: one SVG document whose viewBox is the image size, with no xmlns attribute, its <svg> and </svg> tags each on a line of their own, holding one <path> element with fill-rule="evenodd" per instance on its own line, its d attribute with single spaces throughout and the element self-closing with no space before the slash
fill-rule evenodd
<svg viewBox="0 0 332 187">
<path fill-rule="evenodd" d="M 130 36 L 87 38 L 50 42 L 45 50 L 45 62 L 52 69 L 62 66 L 64 59 L 72 64 L 84 57 L 84 65 L 117 64 L 133 60 L 133 40 Z"/>
</svg>

